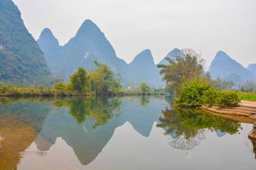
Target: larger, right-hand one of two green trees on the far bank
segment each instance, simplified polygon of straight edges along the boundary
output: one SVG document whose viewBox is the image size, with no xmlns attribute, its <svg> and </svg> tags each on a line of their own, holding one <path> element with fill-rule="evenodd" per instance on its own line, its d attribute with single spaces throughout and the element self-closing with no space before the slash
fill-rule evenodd
<svg viewBox="0 0 256 170">
<path fill-rule="evenodd" d="M 122 85 L 119 83 L 119 79 L 115 72 L 111 71 L 108 66 L 103 63 L 97 63 L 97 69 L 92 74 L 92 90 L 96 94 L 108 94 L 119 91 Z"/>
</svg>

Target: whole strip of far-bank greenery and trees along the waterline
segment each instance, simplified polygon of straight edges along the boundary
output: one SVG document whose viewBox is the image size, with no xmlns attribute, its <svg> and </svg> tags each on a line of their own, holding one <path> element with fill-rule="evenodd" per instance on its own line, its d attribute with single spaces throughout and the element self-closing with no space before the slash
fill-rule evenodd
<svg viewBox="0 0 256 170">
<path fill-rule="evenodd" d="M 150 89 L 145 82 L 137 90 L 123 89 L 120 76 L 108 66 L 94 62 L 96 69 L 87 71 L 78 68 L 70 76 L 70 83 L 57 82 L 55 85 L 10 85 L 0 83 L 0 96 L 124 96 L 167 94 L 164 89 Z"/>
</svg>

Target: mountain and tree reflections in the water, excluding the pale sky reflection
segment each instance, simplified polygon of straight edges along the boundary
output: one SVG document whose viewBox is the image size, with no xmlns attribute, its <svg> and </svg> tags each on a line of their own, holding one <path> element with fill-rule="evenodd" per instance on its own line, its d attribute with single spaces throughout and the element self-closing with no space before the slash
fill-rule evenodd
<svg viewBox="0 0 256 170">
<path fill-rule="evenodd" d="M 0 170 L 19 169 L 33 145 L 38 151 L 32 154 L 47 156 L 58 137 L 84 167 L 126 122 L 141 137 L 150 137 L 156 123 L 156 129 L 170 137 L 166 143 L 179 150 L 200 145 L 207 132 L 223 137 L 242 130 L 238 122 L 203 111 L 173 109 L 168 101 L 168 97 L 0 98 Z"/>
</svg>

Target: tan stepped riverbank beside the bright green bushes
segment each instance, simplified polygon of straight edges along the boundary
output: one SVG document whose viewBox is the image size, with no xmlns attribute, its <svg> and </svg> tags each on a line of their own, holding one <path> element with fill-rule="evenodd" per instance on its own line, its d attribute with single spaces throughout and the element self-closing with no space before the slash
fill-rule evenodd
<svg viewBox="0 0 256 170">
<path fill-rule="evenodd" d="M 205 111 L 213 113 L 231 115 L 231 116 L 245 116 L 249 119 L 256 119 L 256 102 L 249 102 L 242 100 L 238 107 L 200 107 Z"/>
</svg>

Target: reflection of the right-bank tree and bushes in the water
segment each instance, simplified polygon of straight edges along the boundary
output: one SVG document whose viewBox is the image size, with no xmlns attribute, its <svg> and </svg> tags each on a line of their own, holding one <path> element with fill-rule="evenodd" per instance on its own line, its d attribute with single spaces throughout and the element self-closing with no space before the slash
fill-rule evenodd
<svg viewBox="0 0 256 170">
<path fill-rule="evenodd" d="M 235 134 L 241 129 L 241 125 L 232 120 L 212 116 L 200 110 L 166 109 L 162 111 L 157 127 L 165 130 L 165 135 L 172 137 L 169 144 L 173 148 L 191 150 L 203 140 L 204 131 L 221 131 L 222 133 Z"/>
</svg>

